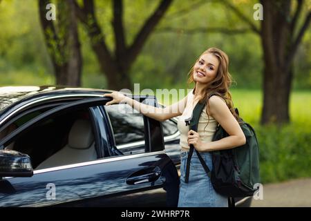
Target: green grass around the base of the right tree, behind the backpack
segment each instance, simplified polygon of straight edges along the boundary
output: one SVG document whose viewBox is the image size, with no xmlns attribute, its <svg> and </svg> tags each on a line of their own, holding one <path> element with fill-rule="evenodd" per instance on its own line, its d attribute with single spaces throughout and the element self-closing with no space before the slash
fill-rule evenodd
<svg viewBox="0 0 311 221">
<path fill-rule="evenodd" d="M 311 91 L 290 95 L 290 124 L 261 126 L 260 90 L 232 90 L 234 106 L 254 126 L 260 149 L 261 182 L 311 176 Z M 176 102 L 160 100 L 163 104 Z"/>
</svg>

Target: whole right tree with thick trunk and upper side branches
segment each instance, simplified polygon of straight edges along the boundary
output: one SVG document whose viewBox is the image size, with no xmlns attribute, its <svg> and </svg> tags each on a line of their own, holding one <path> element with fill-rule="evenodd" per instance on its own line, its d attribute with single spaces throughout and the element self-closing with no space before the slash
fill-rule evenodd
<svg viewBox="0 0 311 221">
<path fill-rule="evenodd" d="M 261 0 L 263 21 L 261 27 L 257 28 L 233 3 L 224 2 L 261 37 L 264 61 L 261 124 L 290 122 L 289 100 L 293 59 L 310 24 L 310 10 L 299 28 L 298 21 L 303 14 L 303 0 L 296 0 L 295 9 L 291 0 Z"/>
</svg>

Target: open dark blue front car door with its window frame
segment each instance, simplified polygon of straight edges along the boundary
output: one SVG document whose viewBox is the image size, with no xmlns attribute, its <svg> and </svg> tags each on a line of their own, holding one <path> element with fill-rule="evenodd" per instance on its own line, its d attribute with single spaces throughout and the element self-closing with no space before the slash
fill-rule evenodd
<svg viewBox="0 0 311 221">
<path fill-rule="evenodd" d="M 107 100 L 84 99 L 53 108 L 17 128 L 1 140 L 0 146 L 3 148 L 19 133 L 51 115 L 81 106 L 102 105 Z M 110 148 L 109 128 L 104 117 L 102 113 L 100 119 L 95 119 L 96 128 L 102 134 L 101 147 Z M 148 128 L 156 125 L 149 119 L 146 123 Z M 159 126 L 157 130 L 160 130 Z M 176 168 L 164 153 L 163 144 L 161 147 L 161 144 L 151 142 L 151 130 L 147 132 L 146 145 L 150 150 L 155 150 L 149 153 L 109 155 L 89 162 L 39 169 L 34 171 L 32 177 L 3 177 L 0 180 L 0 206 L 146 206 L 150 205 L 146 204 L 148 199 L 154 205 L 176 206 Z M 151 147 L 153 144 L 156 146 Z M 162 191 L 162 202 L 153 201 L 154 190 L 162 188 L 166 189 Z"/>
</svg>

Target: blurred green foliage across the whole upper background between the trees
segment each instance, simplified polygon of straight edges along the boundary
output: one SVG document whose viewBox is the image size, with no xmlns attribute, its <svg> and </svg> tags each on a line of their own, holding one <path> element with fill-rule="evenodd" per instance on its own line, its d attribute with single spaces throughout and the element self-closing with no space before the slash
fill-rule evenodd
<svg viewBox="0 0 311 221">
<path fill-rule="evenodd" d="M 82 1 L 78 2 L 82 3 Z M 126 46 L 130 46 L 144 22 L 158 7 L 159 1 L 124 0 L 123 2 Z M 252 19 L 253 6 L 257 1 L 234 0 L 233 2 Z M 103 34 L 99 38 L 104 37 L 109 50 L 113 53 L 115 39 L 111 26 L 112 5 L 112 0 L 95 1 L 97 21 Z M 93 19 L 89 18 L 89 22 L 92 23 Z M 257 27 L 260 26 L 260 21 L 254 23 Z M 39 23 L 37 0 L 24 0 L 23 4 L 18 0 L 3 0 L 0 4 L 0 24 L 0 75 L 28 72 L 30 67 L 43 69 L 47 76 L 53 73 Z M 179 28 L 179 31 L 161 32 L 161 28 L 165 27 Z M 152 89 L 184 87 L 189 69 L 196 58 L 205 49 L 218 47 L 229 55 L 229 72 L 237 82 L 236 88 L 262 88 L 263 55 L 258 35 L 252 32 L 240 35 L 214 32 L 187 34 L 187 30 L 215 27 L 241 29 L 247 28 L 247 24 L 218 1 L 173 1 L 164 18 L 156 26 L 156 30 L 147 39 L 131 70 L 128 70 L 133 83 L 140 83 L 142 88 Z M 58 31 L 64 32 L 64 30 Z M 309 29 L 296 53 L 293 68 L 295 89 L 311 88 L 310 37 Z M 94 78 L 98 76 L 101 84 L 104 84 L 100 87 L 105 87 L 104 73 L 100 73 L 98 61 L 91 48 L 91 41 L 97 39 L 88 38 L 82 23 L 79 23 L 79 39 L 84 60 L 83 86 L 97 87 L 99 84 Z M 53 46 L 56 47 L 56 44 Z M 61 63 L 62 57 L 64 56 L 57 57 L 57 61 Z M 91 75 L 94 80 L 88 80 L 86 77 L 88 75 Z M 10 77 L 10 79 L 17 79 L 17 77 Z M 2 78 L 0 84 L 3 85 L 8 81 Z M 12 82 L 12 84 L 19 83 Z"/>
</svg>

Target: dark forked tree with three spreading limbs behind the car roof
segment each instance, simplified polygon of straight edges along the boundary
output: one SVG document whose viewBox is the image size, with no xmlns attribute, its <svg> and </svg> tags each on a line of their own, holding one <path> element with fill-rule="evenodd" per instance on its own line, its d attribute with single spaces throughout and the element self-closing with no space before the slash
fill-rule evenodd
<svg viewBox="0 0 311 221">
<path fill-rule="evenodd" d="M 91 47 L 95 52 L 100 69 L 108 81 L 107 87 L 113 90 L 122 88 L 132 88 L 129 70 L 135 59 L 140 54 L 142 47 L 154 28 L 159 23 L 171 5 L 172 0 L 162 0 L 153 12 L 153 14 L 145 21 L 144 25 L 135 36 L 130 46 L 126 45 L 126 36 L 123 26 L 123 2 L 122 0 L 113 1 L 113 32 L 115 37 L 115 51 L 111 52 L 106 45 L 104 32 L 97 22 L 95 15 L 95 6 L 93 0 L 84 0 L 83 5 L 79 6 L 75 2 L 75 8 L 79 20 L 84 23 L 88 37 L 91 39 Z"/>
</svg>

